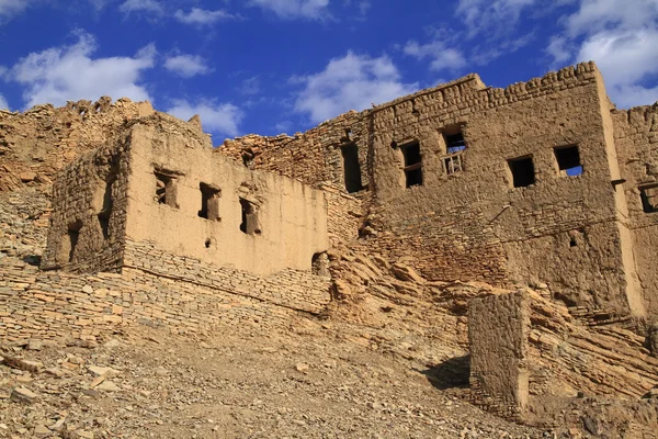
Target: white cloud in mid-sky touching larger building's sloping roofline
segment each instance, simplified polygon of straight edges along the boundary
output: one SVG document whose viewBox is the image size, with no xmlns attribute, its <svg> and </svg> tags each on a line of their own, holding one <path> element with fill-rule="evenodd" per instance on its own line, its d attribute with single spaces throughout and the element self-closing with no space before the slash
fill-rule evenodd
<svg viewBox="0 0 658 439">
<path fill-rule="evenodd" d="M 313 122 L 336 117 L 348 110 L 364 110 L 412 93 L 418 85 L 404 83 L 397 67 L 387 56 L 372 58 L 349 52 L 329 61 L 325 70 L 300 78 L 304 90 L 295 110 L 309 114 Z"/>
</svg>

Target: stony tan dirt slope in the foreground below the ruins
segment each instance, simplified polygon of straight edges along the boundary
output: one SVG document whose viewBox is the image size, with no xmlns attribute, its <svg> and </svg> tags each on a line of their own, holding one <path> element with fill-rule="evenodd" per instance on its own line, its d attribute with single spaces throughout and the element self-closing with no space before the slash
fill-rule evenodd
<svg viewBox="0 0 658 439">
<path fill-rule="evenodd" d="M 42 364 L 0 365 L 0 437 L 553 437 L 467 404 L 458 380 L 440 389 L 427 368 L 364 345 L 307 322 L 285 335 L 136 327 L 93 349 L 12 347 L 3 354 Z"/>
</svg>

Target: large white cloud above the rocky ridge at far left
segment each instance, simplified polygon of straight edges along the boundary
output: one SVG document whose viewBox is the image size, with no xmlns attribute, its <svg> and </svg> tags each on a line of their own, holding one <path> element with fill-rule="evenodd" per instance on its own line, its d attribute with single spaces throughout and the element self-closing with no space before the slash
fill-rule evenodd
<svg viewBox="0 0 658 439">
<path fill-rule="evenodd" d="M 134 57 L 92 59 L 95 41 L 80 34 L 71 46 L 53 47 L 20 59 L 5 75 L 21 83 L 27 108 L 39 103 L 63 105 L 69 100 L 94 100 L 101 95 L 135 101 L 149 99 L 139 85 L 144 70 L 154 67 L 156 48 L 148 45 Z"/>
</svg>

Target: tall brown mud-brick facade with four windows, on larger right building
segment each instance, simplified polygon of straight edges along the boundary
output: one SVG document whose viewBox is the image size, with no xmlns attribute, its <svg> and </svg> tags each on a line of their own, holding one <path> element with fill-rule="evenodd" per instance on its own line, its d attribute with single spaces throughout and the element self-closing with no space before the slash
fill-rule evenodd
<svg viewBox="0 0 658 439">
<path fill-rule="evenodd" d="M 373 210 L 393 255 L 430 279 L 545 282 L 629 309 L 600 81 L 593 64 L 504 90 L 474 75 L 374 109 Z"/>
</svg>

